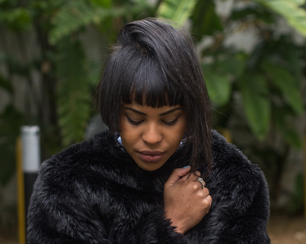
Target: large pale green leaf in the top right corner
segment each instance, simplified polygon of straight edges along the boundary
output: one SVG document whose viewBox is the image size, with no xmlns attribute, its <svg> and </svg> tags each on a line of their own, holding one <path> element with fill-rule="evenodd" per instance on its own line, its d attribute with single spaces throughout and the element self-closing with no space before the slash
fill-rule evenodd
<svg viewBox="0 0 306 244">
<path fill-rule="evenodd" d="M 306 36 L 306 10 L 299 7 L 305 3 L 304 0 L 256 0 L 256 2 L 283 16 L 291 27 Z"/>
</svg>

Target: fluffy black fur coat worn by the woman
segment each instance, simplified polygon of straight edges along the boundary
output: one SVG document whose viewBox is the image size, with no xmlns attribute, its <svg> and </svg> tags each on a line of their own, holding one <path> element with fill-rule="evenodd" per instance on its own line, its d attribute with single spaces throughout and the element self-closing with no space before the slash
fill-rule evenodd
<svg viewBox="0 0 306 244">
<path fill-rule="evenodd" d="M 99 133 L 42 164 L 28 210 L 28 244 L 270 243 L 264 175 L 217 132 L 205 179 L 212 206 L 185 235 L 163 217 L 163 185 L 175 167 L 188 165 L 188 155 L 175 163 L 184 145 L 161 168 L 145 171 L 117 138 Z"/>
</svg>

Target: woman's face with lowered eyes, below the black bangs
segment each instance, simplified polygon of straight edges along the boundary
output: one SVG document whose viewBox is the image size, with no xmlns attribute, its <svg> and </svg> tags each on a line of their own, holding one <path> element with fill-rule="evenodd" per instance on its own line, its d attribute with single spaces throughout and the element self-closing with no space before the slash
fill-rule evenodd
<svg viewBox="0 0 306 244">
<path fill-rule="evenodd" d="M 180 145 L 186 130 L 181 105 L 152 108 L 133 102 L 123 104 L 120 136 L 126 151 L 144 170 L 157 170 Z"/>
</svg>

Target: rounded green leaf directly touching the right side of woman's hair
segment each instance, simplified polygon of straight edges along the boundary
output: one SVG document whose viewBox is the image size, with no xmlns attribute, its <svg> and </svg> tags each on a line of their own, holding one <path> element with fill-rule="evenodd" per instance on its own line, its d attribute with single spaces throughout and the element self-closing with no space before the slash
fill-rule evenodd
<svg viewBox="0 0 306 244">
<path fill-rule="evenodd" d="M 218 106 L 225 105 L 230 100 L 232 90 L 229 76 L 216 72 L 210 65 L 203 65 L 202 69 L 211 102 Z"/>
</svg>

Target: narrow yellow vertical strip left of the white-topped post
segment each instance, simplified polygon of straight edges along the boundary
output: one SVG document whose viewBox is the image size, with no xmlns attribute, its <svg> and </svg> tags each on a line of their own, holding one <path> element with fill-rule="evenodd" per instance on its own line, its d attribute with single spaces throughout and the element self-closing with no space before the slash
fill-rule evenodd
<svg viewBox="0 0 306 244">
<path fill-rule="evenodd" d="M 16 142 L 16 173 L 17 173 L 17 193 L 18 193 L 18 239 L 19 244 L 26 243 L 25 227 L 25 204 L 24 204 L 24 177 L 22 170 L 22 145 L 21 138 Z"/>
</svg>

